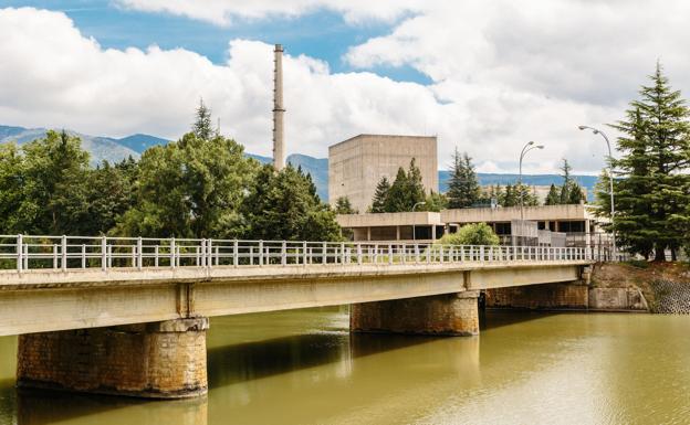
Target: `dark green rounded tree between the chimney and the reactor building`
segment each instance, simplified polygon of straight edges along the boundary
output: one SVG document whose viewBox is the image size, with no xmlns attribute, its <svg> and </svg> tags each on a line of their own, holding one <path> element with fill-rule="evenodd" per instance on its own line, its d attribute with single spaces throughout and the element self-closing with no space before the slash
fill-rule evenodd
<svg viewBox="0 0 690 425">
<path fill-rule="evenodd" d="M 301 170 L 288 166 L 275 172 L 270 164 L 259 171 L 244 200 L 245 236 L 260 240 L 338 241 L 335 212 L 321 202 Z"/>
</svg>

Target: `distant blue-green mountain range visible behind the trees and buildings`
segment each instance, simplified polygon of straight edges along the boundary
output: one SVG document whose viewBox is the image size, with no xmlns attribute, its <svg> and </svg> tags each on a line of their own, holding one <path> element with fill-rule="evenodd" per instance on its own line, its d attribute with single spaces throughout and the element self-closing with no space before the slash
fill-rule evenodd
<svg viewBox="0 0 690 425">
<path fill-rule="evenodd" d="M 24 128 L 0 125 L 0 144 L 17 141 L 19 145 L 27 144 L 31 140 L 42 138 L 45 136 L 45 128 Z M 136 134 L 123 138 L 112 138 L 103 136 L 90 136 L 81 132 L 66 130 L 70 135 L 79 136 L 82 139 L 82 147 L 91 153 L 91 161 L 93 164 L 97 164 L 103 160 L 109 162 L 121 161 L 129 156 L 138 159 L 142 153 L 156 145 L 165 145 L 167 139 L 160 137 Z M 270 157 L 262 157 L 259 155 L 247 153 L 248 157 L 257 159 L 261 163 L 269 163 L 272 161 Z M 292 163 L 293 167 L 302 167 L 305 172 L 309 172 L 316 184 L 316 191 L 321 199 L 328 200 L 328 159 L 327 158 L 314 158 L 307 155 L 293 153 L 288 156 L 288 163 Z M 477 174 L 479 183 L 482 185 L 488 184 L 515 184 L 518 182 L 518 174 L 500 174 L 500 173 L 483 173 Z M 440 191 L 445 192 L 448 189 L 448 180 L 450 172 L 447 170 L 439 171 L 439 185 Z M 573 178 L 584 188 L 587 189 L 587 196 L 592 200 L 594 194 L 594 185 L 597 182 L 596 176 L 573 176 Z M 561 184 L 563 178 L 557 174 L 534 174 L 523 176 L 522 180 L 529 185 L 551 185 Z"/>
</svg>

